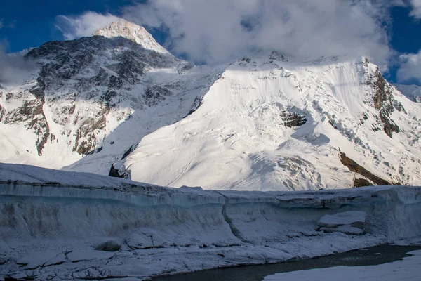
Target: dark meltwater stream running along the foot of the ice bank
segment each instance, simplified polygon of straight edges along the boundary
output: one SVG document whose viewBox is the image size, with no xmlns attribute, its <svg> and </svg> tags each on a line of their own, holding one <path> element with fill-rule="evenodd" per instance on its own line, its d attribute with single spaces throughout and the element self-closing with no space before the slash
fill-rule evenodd
<svg viewBox="0 0 421 281">
<path fill-rule="evenodd" d="M 263 277 L 275 273 L 286 273 L 296 270 L 330 268 L 333 266 L 376 266 L 382 263 L 399 261 L 409 251 L 420 250 L 421 245 L 394 246 L 381 245 L 368 249 L 348 251 L 347 253 L 322 256 L 314 259 L 288 261 L 285 263 L 265 264 L 259 266 L 237 266 L 234 268 L 217 268 L 201 270 L 194 273 L 155 277 L 153 281 L 261 281 Z"/>
</svg>

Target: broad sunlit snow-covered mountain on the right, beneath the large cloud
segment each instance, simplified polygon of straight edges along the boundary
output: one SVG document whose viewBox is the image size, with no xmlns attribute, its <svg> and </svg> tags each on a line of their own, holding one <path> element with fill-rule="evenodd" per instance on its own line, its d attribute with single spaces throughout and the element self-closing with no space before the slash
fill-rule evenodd
<svg viewBox="0 0 421 281">
<path fill-rule="evenodd" d="M 421 107 L 366 58 L 303 63 L 279 53 L 243 58 L 185 119 L 150 133 L 120 174 L 157 185 L 219 190 L 347 188 L 365 176 L 418 185 Z"/>
</svg>

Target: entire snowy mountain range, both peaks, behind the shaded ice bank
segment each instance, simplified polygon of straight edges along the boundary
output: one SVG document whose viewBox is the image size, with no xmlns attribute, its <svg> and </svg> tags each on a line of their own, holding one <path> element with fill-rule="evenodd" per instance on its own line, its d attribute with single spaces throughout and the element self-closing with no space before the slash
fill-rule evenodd
<svg viewBox="0 0 421 281">
<path fill-rule="evenodd" d="M 366 58 L 175 58 L 119 20 L 0 83 L 0 162 L 207 189 L 421 183 L 421 106 Z"/>
</svg>

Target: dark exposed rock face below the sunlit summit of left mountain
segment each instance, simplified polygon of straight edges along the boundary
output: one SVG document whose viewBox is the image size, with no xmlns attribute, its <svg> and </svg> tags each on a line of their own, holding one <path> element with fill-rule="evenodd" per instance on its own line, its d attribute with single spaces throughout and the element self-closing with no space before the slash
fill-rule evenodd
<svg viewBox="0 0 421 281">
<path fill-rule="evenodd" d="M 98 60 L 100 58 L 100 60 Z M 121 91 L 130 85 L 140 83 L 145 67 L 168 67 L 178 63 L 170 54 L 145 50 L 141 45 L 123 37 L 105 38 L 102 36 L 83 37 L 73 41 L 50 41 L 39 48 L 34 48 L 25 55 L 25 59 L 39 63 L 40 71 L 36 83 L 29 92 L 37 101 L 27 101 L 22 107 L 8 112 L 8 123 L 28 122 L 39 136 L 36 148 L 39 155 L 50 136 L 49 126 L 42 107 L 46 102 L 67 100 L 62 107 L 54 109 L 53 122 L 65 125 L 71 120 L 75 126 L 73 151 L 81 155 L 95 152 L 98 146 L 98 133 L 105 129 L 110 107 L 121 99 Z M 66 86 L 71 92 L 63 92 Z M 74 85 L 74 86 L 73 86 Z M 60 93 L 56 96 L 55 93 Z M 147 104 L 154 105 L 171 91 L 163 87 L 150 88 Z M 12 93 L 6 100 L 12 98 Z M 83 112 L 76 111 L 76 99 L 91 100 L 98 104 L 99 110 L 81 122 Z M 71 105 L 68 102 L 71 102 Z M 79 109 L 83 110 L 83 109 Z"/>
</svg>

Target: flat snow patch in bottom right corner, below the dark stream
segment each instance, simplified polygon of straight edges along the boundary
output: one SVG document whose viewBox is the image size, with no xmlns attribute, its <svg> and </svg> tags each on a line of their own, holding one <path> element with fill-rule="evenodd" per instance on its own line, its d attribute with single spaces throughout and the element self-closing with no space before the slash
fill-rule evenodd
<svg viewBox="0 0 421 281">
<path fill-rule="evenodd" d="M 411 251 L 403 261 L 385 263 L 379 266 L 353 266 L 320 268 L 312 270 L 293 271 L 290 273 L 278 273 L 265 277 L 264 281 L 312 281 L 312 280 L 335 280 L 354 281 L 396 281 L 396 280 L 420 280 L 421 251 Z"/>
</svg>

